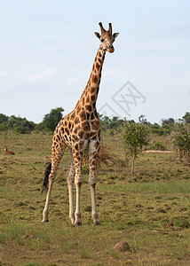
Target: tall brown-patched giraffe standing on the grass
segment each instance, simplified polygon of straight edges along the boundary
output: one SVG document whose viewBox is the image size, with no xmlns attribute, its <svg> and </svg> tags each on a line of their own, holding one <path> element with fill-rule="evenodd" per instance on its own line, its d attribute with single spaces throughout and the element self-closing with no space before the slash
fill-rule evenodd
<svg viewBox="0 0 190 266">
<path fill-rule="evenodd" d="M 69 218 L 71 223 L 82 225 L 80 198 L 82 176 L 82 159 L 84 149 L 89 149 L 89 185 L 91 192 L 91 217 L 94 225 L 99 225 L 99 216 L 96 208 L 95 186 L 96 186 L 96 160 L 100 147 L 100 122 L 96 110 L 96 101 L 99 93 L 99 83 L 101 71 L 105 59 L 106 51 L 115 51 L 113 43 L 119 33 L 112 34 L 112 25 L 109 23 L 108 30 L 105 30 L 99 22 L 101 35 L 94 34 L 99 38 L 100 45 L 96 58 L 93 63 L 90 79 L 87 82 L 81 98 L 76 103 L 75 109 L 63 117 L 54 131 L 51 146 L 51 164 L 45 170 L 44 189 L 47 196 L 43 211 L 42 223 L 49 222 L 49 203 L 51 198 L 52 184 L 55 180 L 59 161 L 61 160 L 66 148 L 70 154 L 70 166 L 67 172 L 67 188 L 69 195 Z M 76 188 L 76 204 L 74 211 L 73 186 Z"/>
</svg>

